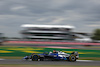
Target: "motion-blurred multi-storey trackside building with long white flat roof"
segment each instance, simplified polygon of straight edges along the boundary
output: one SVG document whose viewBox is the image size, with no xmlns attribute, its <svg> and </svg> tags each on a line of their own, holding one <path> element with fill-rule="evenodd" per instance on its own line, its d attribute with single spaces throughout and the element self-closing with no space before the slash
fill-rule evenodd
<svg viewBox="0 0 100 67">
<path fill-rule="evenodd" d="M 21 25 L 21 34 L 25 39 L 32 40 L 73 40 L 74 26 L 70 25 Z"/>
</svg>

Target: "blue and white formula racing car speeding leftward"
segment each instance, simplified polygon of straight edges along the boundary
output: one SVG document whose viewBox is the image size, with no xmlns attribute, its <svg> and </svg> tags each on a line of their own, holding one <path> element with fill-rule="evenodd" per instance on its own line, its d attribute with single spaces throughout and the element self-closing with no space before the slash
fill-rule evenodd
<svg viewBox="0 0 100 67">
<path fill-rule="evenodd" d="M 62 51 L 56 51 L 56 53 L 52 52 L 44 52 L 42 54 L 36 54 L 33 53 L 31 56 L 25 56 L 23 59 L 28 60 L 31 59 L 32 61 L 45 61 L 45 60 L 50 60 L 50 61 L 60 61 L 60 60 L 65 60 L 65 61 L 76 61 L 79 58 L 78 52 L 72 52 L 71 54 L 67 54 Z"/>
</svg>

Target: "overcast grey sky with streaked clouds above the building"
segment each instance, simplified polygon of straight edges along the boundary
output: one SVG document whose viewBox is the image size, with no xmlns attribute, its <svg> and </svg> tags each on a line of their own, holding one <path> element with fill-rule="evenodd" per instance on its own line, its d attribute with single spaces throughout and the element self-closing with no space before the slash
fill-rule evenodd
<svg viewBox="0 0 100 67">
<path fill-rule="evenodd" d="M 21 37 L 22 24 L 72 25 L 75 32 L 100 28 L 100 0 L 0 0 L 0 33 Z"/>
</svg>

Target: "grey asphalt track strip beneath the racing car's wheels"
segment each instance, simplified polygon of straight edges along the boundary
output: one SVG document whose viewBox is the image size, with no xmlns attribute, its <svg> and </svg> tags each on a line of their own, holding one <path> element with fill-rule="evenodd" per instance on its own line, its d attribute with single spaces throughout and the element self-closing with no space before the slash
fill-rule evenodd
<svg viewBox="0 0 100 67">
<path fill-rule="evenodd" d="M 20 59 L 0 60 L 0 64 L 29 64 L 29 65 L 96 65 L 100 66 L 100 61 L 23 61 Z"/>
</svg>

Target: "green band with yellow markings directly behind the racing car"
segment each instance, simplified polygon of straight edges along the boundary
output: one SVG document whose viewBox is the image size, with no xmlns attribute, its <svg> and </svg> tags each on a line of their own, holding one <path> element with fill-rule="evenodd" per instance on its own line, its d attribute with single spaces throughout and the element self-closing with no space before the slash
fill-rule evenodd
<svg viewBox="0 0 100 67">
<path fill-rule="evenodd" d="M 0 47 L 0 56 L 3 57 L 24 57 L 30 55 L 31 53 L 43 53 L 45 51 L 64 51 L 66 53 L 71 53 L 73 51 L 78 51 L 80 58 L 91 57 L 100 58 L 100 50 L 90 50 L 90 49 L 58 49 L 58 48 L 38 48 L 38 47 Z"/>
</svg>

